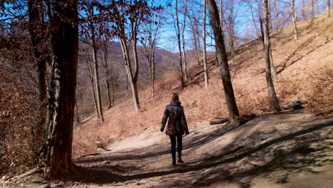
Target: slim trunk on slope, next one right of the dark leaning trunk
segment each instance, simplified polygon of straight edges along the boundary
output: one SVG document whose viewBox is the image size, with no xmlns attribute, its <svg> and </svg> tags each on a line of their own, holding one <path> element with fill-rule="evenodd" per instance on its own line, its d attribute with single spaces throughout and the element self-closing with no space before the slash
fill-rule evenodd
<svg viewBox="0 0 333 188">
<path fill-rule="evenodd" d="M 264 51 L 265 51 L 265 61 L 266 61 L 266 80 L 268 85 L 268 93 L 270 95 L 270 106 L 274 113 L 280 112 L 280 103 L 277 100 L 275 88 L 272 80 L 272 75 L 270 72 L 270 30 L 269 30 L 269 14 L 268 14 L 268 0 L 263 0 L 263 11 L 264 11 Z"/>
</svg>

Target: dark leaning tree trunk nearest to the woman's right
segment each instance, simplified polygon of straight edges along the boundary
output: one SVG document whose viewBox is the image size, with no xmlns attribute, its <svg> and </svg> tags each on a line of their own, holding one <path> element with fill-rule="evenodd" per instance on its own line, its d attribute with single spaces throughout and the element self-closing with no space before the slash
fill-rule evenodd
<svg viewBox="0 0 333 188">
<path fill-rule="evenodd" d="M 229 118 L 231 122 L 239 117 L 238 108 L 236 105 L 235 95 L 233 93 L 233 85 L 231 83 L 231 76 L 229 73 L 228 57 L 226 54 L 226 47 L 223 40 L 223 31 L 221 29 L 221 22 L 218 16 L 218 9 L 215 0 L 207 0 L 209 16 L 211 18 L 211 26 L 215 36 L 216 43 L 216 56 L 220 64 L 221 78 L 223 83 L 224 93 L 226 95 L 226 103 L 228 105 Z"/>
</svg>

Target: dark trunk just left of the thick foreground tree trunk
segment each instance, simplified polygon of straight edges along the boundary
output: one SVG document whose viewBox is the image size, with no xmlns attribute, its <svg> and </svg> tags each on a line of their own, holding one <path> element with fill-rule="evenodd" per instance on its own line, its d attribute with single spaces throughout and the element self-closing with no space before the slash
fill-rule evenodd
<svg viewBox="0 0 333 188">
<path fill-rule="evenodd" d="M 43 102 L 46 98 L 46 61 L 41 58 L 41 51 L 38 45 L 41 43 L 40 37 L 37 36 L 38 24 L 41 24 L 41 14 L 38 10 L 36 1 L 28 1 L 28 15 L 29 15 L 29 32 L 31 36 L 31 44 L 33 47 L 33 56 L 36 58 L 38 67 L 38 98 Z"/>
</svg>

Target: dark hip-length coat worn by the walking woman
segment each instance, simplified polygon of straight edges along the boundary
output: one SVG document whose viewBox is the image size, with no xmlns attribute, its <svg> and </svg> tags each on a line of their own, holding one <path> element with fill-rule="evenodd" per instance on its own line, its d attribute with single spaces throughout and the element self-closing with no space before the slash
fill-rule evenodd
<svg viewBox="0 0 333 188">
<path fill-rule="evenodd" d="M 178 100 L 171 100 L 169 105 L 166 105 L 164 115 L 162 118 L 161 131 L 164 131 L 166 121 L 168 121 L 168 127 L 175 127 L 177 134 L 184 135 L 189 134 L 189 128 L 184 114 L 184 108 L 181 106 L 181 102 Z"/>
</svg>

